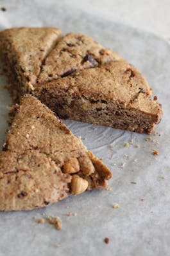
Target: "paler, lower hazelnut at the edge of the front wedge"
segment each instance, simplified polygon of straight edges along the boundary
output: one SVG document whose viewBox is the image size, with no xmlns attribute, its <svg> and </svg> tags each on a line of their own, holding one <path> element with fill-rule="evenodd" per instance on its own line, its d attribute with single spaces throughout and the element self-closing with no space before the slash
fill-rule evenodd
<svg viewBox="0 0 170 256">
<path fill-rule="evenodd" d="M 87 190 L 89 183 L 86 179 L 74 174 L 71 179 L 71 192 L 74 195 L 78 195 Z"/>
</svg>

